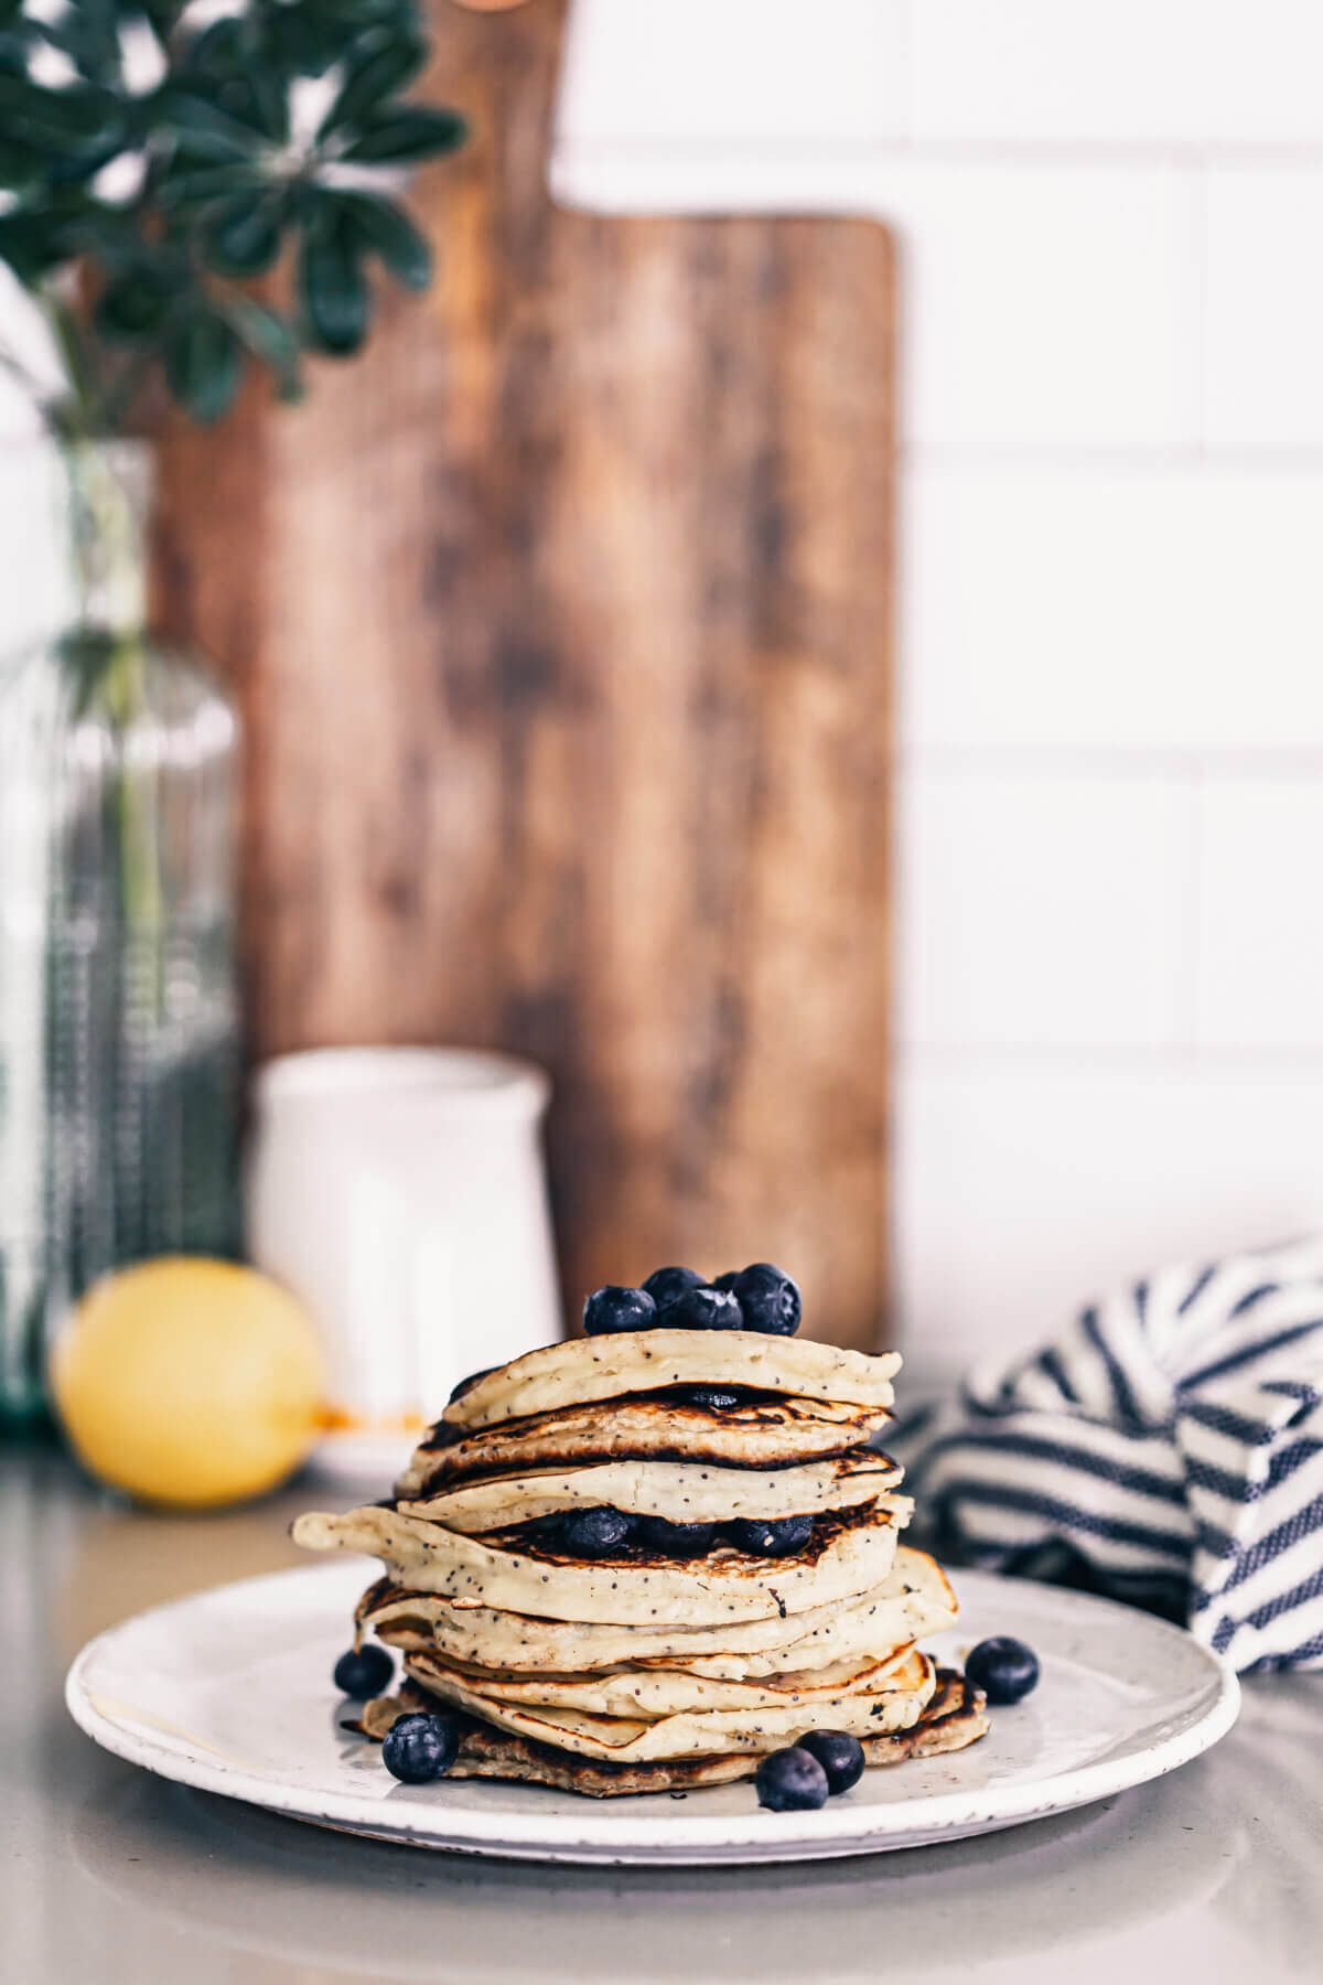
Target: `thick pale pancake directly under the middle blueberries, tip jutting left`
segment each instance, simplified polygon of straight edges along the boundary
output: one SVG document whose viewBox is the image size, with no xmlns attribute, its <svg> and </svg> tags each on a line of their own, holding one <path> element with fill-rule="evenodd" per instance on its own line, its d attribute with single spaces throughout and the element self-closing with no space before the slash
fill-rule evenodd
<svg viewBox="0 0 1323 1985">
<path fill-rule="evenodd" d="M 803 1550 L 783 1558 L 718 1548 L 676 1560 L 633 1546 L 615 1558 L 567 1558 L 534 1548 L 528 1538 L 504 1548 L 504 1532 L 482 1540 L 460 1536 L 381 1505 L 345 1517 L 309 1511 L 292 1534 L 309 1550 L 363 1550 L 381 1558 L 395 1582 L 415 1592 L 466 1598 L 498 1612 L 615 1626 L 720 1626 L 805 1612 L 877 1586 L 893 1566 L 899 1521 L 908 1517 L 908 1507 L 893 1513 L 885 1501 L 815 1517 Z"/>
</svg>

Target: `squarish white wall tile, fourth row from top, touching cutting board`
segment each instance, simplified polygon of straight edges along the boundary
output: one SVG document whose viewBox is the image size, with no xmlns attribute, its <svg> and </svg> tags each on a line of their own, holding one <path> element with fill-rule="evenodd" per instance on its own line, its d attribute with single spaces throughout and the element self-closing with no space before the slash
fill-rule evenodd
<svg viewBox="0 0 1323 1985">
<path fill-rule="evenodd" d="M 906 764 L 899 1028 L 914 1048 L 1184 1042 L 1196 788 L 1158 770 Z M 1027 965 L 1033 965 L 1027 971 Z"/>
</svg>

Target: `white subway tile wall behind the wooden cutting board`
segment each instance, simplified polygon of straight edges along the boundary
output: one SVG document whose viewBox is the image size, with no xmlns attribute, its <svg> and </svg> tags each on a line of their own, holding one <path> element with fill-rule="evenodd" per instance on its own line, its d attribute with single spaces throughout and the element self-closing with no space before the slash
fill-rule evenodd
<svg viewBox="0 0 1323 1985">
<path fill-rule="evenodd" d="M 575 0 L 553 185 L 897 232 L 912 1364 L 1319 1225 L 1323 8 Z"/>
</svg>

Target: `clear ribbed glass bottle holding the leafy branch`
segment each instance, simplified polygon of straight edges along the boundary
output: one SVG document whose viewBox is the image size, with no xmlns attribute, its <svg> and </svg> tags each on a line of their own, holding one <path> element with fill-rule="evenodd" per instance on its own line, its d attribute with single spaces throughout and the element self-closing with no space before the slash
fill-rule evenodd
<svg viewBox="0 0 1323 1985">
<path fill-rule="evenodd" d="M 0 1419 L 97 1274 L 238 1247 L 238 721 L 143 633 L 151 455 L 67 449 L 77 623 L 0 665 Z"/>
</svg>

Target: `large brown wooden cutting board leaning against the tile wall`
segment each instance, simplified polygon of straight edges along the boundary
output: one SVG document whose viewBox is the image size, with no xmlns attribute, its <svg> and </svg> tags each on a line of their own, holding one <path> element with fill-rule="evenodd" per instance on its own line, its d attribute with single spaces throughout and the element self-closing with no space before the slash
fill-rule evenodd
<svg viewBox="0 0 1323 1985">
<path fill-rule="evenodd" d="M 163 621 L 248 727 L 252 1048 L 532 1054 L 571 1316 L 772 1258 L 871 1346 L 891 242 L 551 204 L 561 14 L 438 0 L 476 139 L 415 187 L 432 294 L 167 441 Z"/>
</svg>

